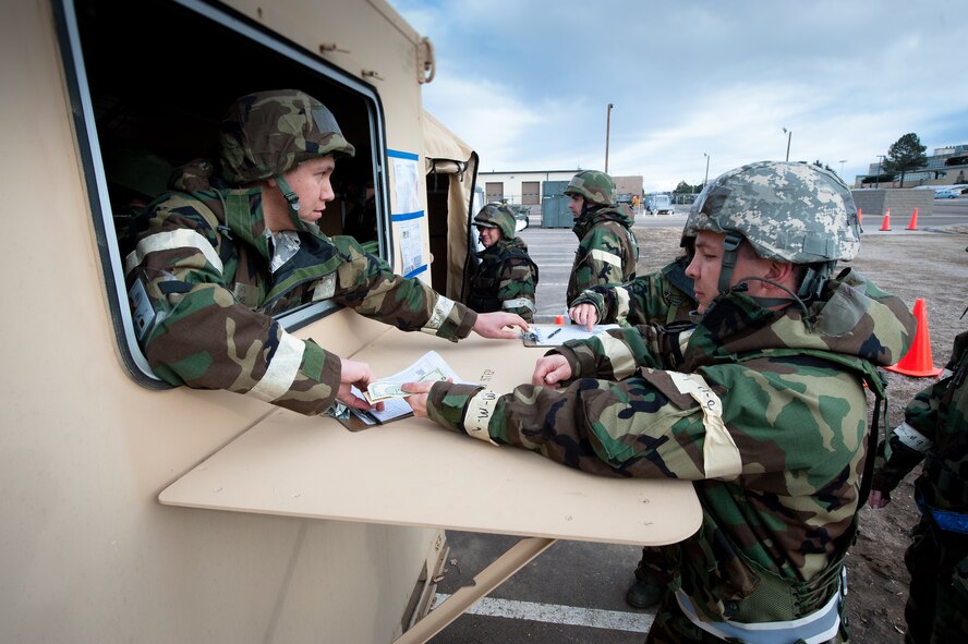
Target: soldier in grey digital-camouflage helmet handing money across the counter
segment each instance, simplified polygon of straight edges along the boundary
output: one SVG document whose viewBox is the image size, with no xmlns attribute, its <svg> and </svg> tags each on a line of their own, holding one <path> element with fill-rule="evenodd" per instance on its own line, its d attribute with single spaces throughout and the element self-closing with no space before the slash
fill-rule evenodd
<svg viewBox="0 0 968 644">
<path fill-rule="evenodd" d="M 406 385 L 456 432 L 606 476 L 694 482 L 699 532 L 664 547 L 675 571 L 649 642 L 846 641 L 844 557 L 864 466 L 863 384 L 909 348 L 915 320 L 838 260 L 860 245 L 833 173 L 759 162 L 713 181 L 683 230 L 693 325 L 569 341 L 533 385 Z M 565 387 L 561 387 L 565 385 Z M 871 463 L 873 461 L 871 460 Z"/>
</svg>

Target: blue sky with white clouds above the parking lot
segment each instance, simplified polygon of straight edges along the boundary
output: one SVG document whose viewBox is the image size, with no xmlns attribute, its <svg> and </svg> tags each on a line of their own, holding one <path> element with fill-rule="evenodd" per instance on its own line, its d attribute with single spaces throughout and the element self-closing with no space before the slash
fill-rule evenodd
<svg viewBox="0 0 968 644">
<path fill-rule="evenodd" d="M 645 190 L 749 161 L 848 183 L 913 132 L 968 143 L 964 0 L 389 0 L 434 44 L 424 107 L 483 171 L 604 169 Z M 610 127 L 606 127 L 613 104 Z"/>
</svg>

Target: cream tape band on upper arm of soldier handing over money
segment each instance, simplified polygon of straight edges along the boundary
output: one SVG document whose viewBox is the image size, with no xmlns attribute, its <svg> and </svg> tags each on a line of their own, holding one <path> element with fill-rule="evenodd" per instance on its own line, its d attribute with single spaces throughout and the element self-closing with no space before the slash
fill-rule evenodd
<svg viewBox="0 0 968 644">
<path fill-rule="evenodd" d="M 736 478 L 742 472 L 742 459 L 733 436 L 723 424 L 723 401 L 699 374 L 666 373 L 676 388 L 694 398 L 702 410 L 702 424 L 706 429 L 702 460 L 706 478 Z"/>
</svg>

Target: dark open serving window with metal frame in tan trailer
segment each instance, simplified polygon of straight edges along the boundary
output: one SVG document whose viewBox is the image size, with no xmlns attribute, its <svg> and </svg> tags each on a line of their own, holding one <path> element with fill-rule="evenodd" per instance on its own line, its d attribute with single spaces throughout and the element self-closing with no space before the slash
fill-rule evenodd
<svg viewBox="0 0 968 644">
<path fill-rule="evenodd" d="M 356 155 L 337 163 L 336 201 L 320 228 L 354 234 L 392 263 L 384 117 L 373 86 L 220 4 L 62 0 L 53 7 L 116 335 L 135 379 L 164 386 L 136 340 L 123 272 L 125 228 L 132 212 L 169 187 L 173 169 L 206 170 L 218 158 L 218 123 L 238 96 L 299 88 L 332 111 Z M 367 195 L 373 202 L 364 215 Z M 315 303 L 278 319 L 294 329 L 336 307 Z"/>
</svg>

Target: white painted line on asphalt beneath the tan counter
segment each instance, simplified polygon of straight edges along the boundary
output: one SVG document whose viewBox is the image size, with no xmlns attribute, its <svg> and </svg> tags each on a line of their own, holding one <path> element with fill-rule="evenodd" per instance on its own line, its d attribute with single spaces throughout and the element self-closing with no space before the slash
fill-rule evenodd
<svg viewBox="0 0 968 644">
<path fill-rule="evenodd" d="M 437 593 L 434 605 L 439 606 L 450 597 Z M 483 597 L 468 610 L 470 615 L 485 617 L 505 617 L 508 619 L 527 619 L 553 624 L 607 629 L 609 631 L 628 631 L 648 633 L 655 616 L 649 612 L 622 612 L 620 610 L 601 610 L 597 608 L 578 608 L 560 604 L 537 604 L 535 602 L 518 602 L 516 599 L 496 599 Z"/>
</svg>

